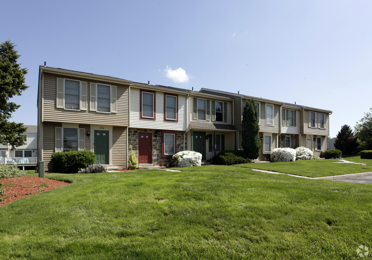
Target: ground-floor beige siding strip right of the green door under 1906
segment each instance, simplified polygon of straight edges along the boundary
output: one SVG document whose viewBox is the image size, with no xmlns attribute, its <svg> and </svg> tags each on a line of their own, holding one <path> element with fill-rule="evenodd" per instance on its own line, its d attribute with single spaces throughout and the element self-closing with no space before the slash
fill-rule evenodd
<svg viewBox="0 0 372 260">
<path fill-rule="evenodd" d="M 128 149 L 126 147 L 127 128 L 112 128 L 112 165 L 126 168 Z"/>
</svg>

